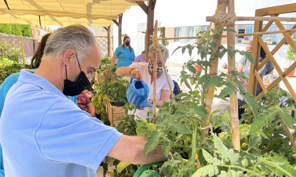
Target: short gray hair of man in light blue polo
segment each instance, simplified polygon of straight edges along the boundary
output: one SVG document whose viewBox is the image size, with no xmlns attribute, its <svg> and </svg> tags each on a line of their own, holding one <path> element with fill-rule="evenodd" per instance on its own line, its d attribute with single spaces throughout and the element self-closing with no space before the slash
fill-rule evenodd
<svg viewBox="0 0 296 177">
<path fill-rule="evenodd" d="M 80 24 L 74 24 L 59 28 L 50 35 L 44 48 L 44 55 L 54 58 L 68 49 L 74 49 L 78 60 L 83 62 L 91 54 L 94 44 L 96 44 L 96 38 L 93 33 Z M 49 58 L 46 59 L 49 60 Z"/>
</svg>

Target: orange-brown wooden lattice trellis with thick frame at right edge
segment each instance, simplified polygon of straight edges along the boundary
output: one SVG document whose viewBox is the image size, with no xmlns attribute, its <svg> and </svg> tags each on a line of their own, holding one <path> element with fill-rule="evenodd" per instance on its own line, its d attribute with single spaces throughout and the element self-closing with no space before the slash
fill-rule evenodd
<svg viewBox="0 0 296 177">
<path fill-rule="evenodd" d="M 267 8 L 264 8 L 264 9 L 257 9 L 255 11 L 255 16 L 258 17 L 258 16 L 267 16 L 267 15 L 270 15 L 271 17 L 277 17 L 277 16 L 279 16 L 279 14 L 296 12 L 296 7 L 295 6 L 296 6 L 296 4 L 287 4 L 287 5 L 282 5 L 282 6 L 267 7 Z M 262 21 L 255 21 L 254 32 L 265 32 L 271 26 L 271 24 L 273 22 L 274 21 L 269 21 L 265 25 L 265 27 L 262 29 L 263 22 Z M 281 22 L 275 21 L 274 23 L 279 28 L 279 30 L 285 30 L 285 28 L 281 24 Z M 295 29 L 295 28 L 296 28 L 296 24 L 292 27 L 292 29 Z M 289 74 L 293 69 L 296 68 L 296 62 L 294 62 L 292 65 L 290 65 L 290 67 L 286 71 L 283 72 L 281 70 L 281 68 L 279 67 L 279 64 L 277 63 L 277 61 L 275 60 L 275 58 L 273 56 L 276 53 L 276 51 L 279 50 L 279 48 L 286 41 L 289 43 L 289 45 L 292 47 L 292 49 L 294 51 L 296 51 L 296 44 L 295 44 L 295 42 L 293 41 L 293 39 L 291 37 L 291 35 L 293 33 L 294 32 L 282 32 L 282 34 L 284 35 L 284 38 L 276 45 L 276 47 L 274 47 L 274 49 L 272 51 L 270 51 L 268 49 L 268 47 L 266 46 L 266 44 L 264 43 L 264 41 L 262 39 L 262 35 L 256 35 L 256 36 L 254 36 L 252 51 L 254 53 L 255 66 L 254 65 L 251 65 L 249 90 L 252 91 L 252 93 L 255 96 L 255 93 L 256 93 L 256 85 L 257 85 L 257 81 L 258 81 L 258 83 L 262 87 L 263 91 L 258 96 L 256 96 L 256 99 L 257 100 L 259 99 L 259 97 L 260 97 L 261 94 L 266 93 L 267 91 L 269 91 L 270 89 L 272 89 L 276 84 L 278 84 L 280 81 L 283 81 L 284 84 L 287 86 L 287 89 L 290 92 L 291 96 L 296 101 L 296 93 L 295 93 L 294 89 L 292 88 L 291 84 L 289 83 L 289 81 L 286 78 L 287 74 Z M 259 53 L 260 52 L 258 52 L 258 51 L 260 51 L 260 46 L 263 47 L 263 49 L 266 52 L 267 56 L 259 64 Z M 264 86 L 264 84 L 263 84 L 262 79 L 260 78 L 260 76 L 258 74 L 258 71 L 260 70 L 260 68 L 263 67 L 263 65 L 268 60 L 270 60 L 271 63 L 274 65 L 274 68 L 279 73 L 279 77 L 266 88 Z"/>
</svg>

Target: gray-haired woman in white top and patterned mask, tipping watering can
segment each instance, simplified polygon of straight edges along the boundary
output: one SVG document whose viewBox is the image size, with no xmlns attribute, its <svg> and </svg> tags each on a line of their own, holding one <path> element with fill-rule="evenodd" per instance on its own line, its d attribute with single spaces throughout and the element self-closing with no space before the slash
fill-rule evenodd
<svg viewBox="0 0 296 177">
<path fill-rule="evenodd" d="M 164 61 L 166 62 L 169 57 L 168 48 L 162 44 L 159 44 L 160 52 L 163 56 Z M 115 73 L 120 77 L 133 77 L 139 81 L 144 81 L 149 87 L 149 96 L 146 100 L 149 103 L 152 103 L 153 100 L 153 67 L 156 65 L 157 67 L 157 82 L 156 82 L 156 107 L 160 107 L 164 101 L 169 101 L 170 98 L 170 88 L 168 86 L 168 82 L 165 77 L 165 73 L 163 71 L 163 65 L 161 63 L 160 57 L 157 55 L 157 63 L 153 63 L 153 45 L 149 47 L 149 53 L 147 58 L 149 63 L 133 63 L 127 67 L 118 68 Z M 173 80 L 168 74 L 170 85 L 174 86 Z M 152 111 L 150 107 L 144 107 L 142 109 L 137 109 L 135 115 L 137 115 L 140 119 L 147 119 L 147 113 Z M 129 114 L 133 112 L 130 111 Z M 151 117 L 151 116 L 149 116 Z"/>
</svg>

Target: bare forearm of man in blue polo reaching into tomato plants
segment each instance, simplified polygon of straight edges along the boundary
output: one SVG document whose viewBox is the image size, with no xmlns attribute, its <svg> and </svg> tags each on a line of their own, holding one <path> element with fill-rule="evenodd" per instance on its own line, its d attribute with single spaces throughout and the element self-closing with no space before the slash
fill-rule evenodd
<svg viewBox="0 0 296 177">
<path fill-rule="evenodd" d="M 144 146 L 146 143 L 145 137 L 122 135 L 107 156 L 138 165 L 168 159 L 163 154 L 160 145 L 157 145 L 152 151 L 144 155 Z"/>
</svg>

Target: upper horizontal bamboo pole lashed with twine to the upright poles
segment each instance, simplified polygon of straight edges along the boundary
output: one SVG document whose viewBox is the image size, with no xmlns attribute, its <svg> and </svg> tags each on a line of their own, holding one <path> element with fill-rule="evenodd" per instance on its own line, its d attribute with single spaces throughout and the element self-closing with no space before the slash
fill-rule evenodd
<svg viewBox="0 0 296 177">
<path fill-rule="evenodd" d="M 206 22 L 215 22 L 215 17 L 207 16 Z M 237 17 L 235 21 L 284 21 L 284 22 L 296 22 L 294 17 Z"/>
</svg>

